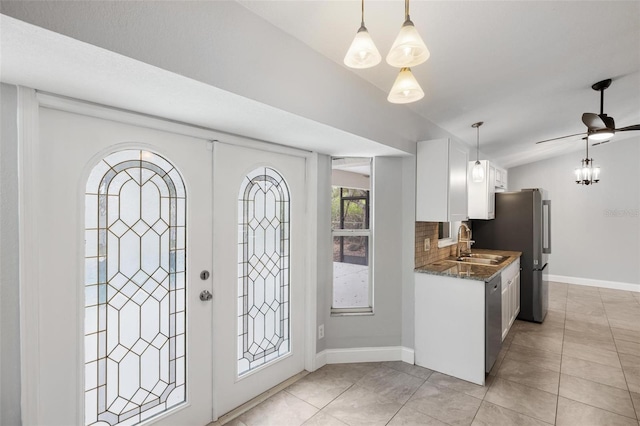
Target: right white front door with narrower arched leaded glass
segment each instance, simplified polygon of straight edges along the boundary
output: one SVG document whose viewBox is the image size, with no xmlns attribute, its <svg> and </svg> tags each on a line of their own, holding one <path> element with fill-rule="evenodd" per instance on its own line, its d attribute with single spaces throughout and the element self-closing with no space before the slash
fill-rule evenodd
<svg viewBox="0 0 640 426">
<path fill-rule="evenodd" d="M 303 157 L 215 143 L 217 416 L 304 370 L 305 170 Z"/>
</svg>

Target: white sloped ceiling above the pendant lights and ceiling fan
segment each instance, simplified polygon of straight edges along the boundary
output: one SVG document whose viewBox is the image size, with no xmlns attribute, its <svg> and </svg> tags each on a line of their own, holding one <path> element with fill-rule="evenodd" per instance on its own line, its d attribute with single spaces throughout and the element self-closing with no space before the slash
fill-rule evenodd
<svg viewBox="0 0 640 426">
<path fill-rule="evenodd" d="M 327 58 L 342 59 L 360 25 L 360 1 L 251 1 L 247 9 Z M 599 112 L 597 81 L 613 78 L 605 113 L 618 127 L 640 123 L 640 2 L 416 1 L 410 15 L 431 57 L 412 69 L 421 116 L 505 166 L 584 146 L 583 112 Z M 366 1 L 365 23 L 383 58 L 404 20 L 404 2 Z M 352 70 L 388 92 L 397 70 L 384 62 Z M 639 132 L 620 133 L 618 139 Z"/>
</svg>

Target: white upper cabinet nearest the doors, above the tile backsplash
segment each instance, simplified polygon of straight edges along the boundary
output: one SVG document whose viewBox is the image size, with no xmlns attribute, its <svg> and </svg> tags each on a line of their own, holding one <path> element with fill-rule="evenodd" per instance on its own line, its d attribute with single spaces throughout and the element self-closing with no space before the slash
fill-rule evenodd
<svg viewBox="0 0 640 426">
<path fill-rule="evenodd" d="M 467 147 L 451 139 L 418 142 L 416 220 L 467 220 Z"/>
</svg>

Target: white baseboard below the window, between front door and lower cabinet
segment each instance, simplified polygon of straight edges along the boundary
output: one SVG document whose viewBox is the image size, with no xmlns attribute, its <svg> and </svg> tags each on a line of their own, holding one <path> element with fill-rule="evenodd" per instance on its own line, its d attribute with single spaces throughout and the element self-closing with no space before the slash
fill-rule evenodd
<svg viewBox="0 0 640 426">
<path fill-rule="evenodd" d="M 381 361 L 404 361 L 413 364 L 413 349 L 404 346 L 383 346 L 377 348 L 325 349 L 316 354 L 316 368 L 320 368 L 325 364 Z"/>
</svg>

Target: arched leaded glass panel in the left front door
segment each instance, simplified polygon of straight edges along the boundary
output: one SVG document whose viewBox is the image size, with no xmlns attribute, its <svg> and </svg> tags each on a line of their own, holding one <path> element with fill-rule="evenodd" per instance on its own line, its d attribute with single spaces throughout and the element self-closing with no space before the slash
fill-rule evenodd
<svg viewBox="0 0 640 426">
<path fill-rule="evenodd" d="M 133 425 L 185 401 L 185 187 L 123 150 L 85 194 L 85 424 Z"/>
</svg>

